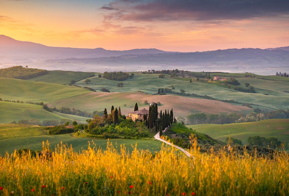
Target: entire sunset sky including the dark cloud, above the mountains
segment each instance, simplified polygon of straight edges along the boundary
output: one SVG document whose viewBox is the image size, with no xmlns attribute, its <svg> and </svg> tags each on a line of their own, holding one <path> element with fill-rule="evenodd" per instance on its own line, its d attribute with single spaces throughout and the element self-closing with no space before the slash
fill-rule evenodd
<svg viewBox="0 0 289 196">
<path fill-rule="evenodd" d="M 107 50 L 276 48 L 289 46 L 289 1 L 0 0 L 0 34 Z"/>
</svg>

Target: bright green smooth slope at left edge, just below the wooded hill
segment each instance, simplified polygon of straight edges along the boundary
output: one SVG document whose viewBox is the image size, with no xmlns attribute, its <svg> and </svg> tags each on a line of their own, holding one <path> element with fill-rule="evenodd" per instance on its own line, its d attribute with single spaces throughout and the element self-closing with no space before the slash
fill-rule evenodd
<svg viewBox="0 0 289 196">
<path fill-rule="evenodd" d="M 15 101 L 48 103 L 91 92 L 79 87 L 10 78 L 0 78 L 0 83 L 0 98 Z"/>
</svg>

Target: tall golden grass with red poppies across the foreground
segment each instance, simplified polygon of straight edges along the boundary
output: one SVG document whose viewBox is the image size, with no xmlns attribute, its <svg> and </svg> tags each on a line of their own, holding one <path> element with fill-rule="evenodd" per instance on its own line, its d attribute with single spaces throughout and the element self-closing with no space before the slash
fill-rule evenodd
<svg viewBox="0 0 289 196">
<path fill-rule="evenodd" d="M 188 158 L 163 147 L 131 154 L 125 147 L 106 151 L 94 144 L 80 154 L 47 145 L 37 154 L 0 157 L 2 195 L 288 195 L 289 157 L 201 154 Z M 145 164 L 144 164 L 145 163 Z"/>
</svg>

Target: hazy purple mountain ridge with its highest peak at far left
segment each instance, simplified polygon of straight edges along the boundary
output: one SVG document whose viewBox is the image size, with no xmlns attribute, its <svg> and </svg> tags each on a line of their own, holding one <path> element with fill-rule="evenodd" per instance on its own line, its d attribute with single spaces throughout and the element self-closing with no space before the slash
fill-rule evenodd
<svg viewBox="0 0 289 196">
<path fill-rule="evenodd" d="M 62 58 L 97 58 L 112 57 L 121 55 L 141 55 L 141 54 L 158 54 L 172 53 L 155 48 L 150 49 L 132 49 L 126 51 L 112 51 L 103 48 L 64 48 L 51 47 L 33 42 L 23 42 L 14 40 L 8 36 L 0 35 L 0 62 L 19 61 L 19 59 L 45 60 L 45 59 L 62 59 Z M 3 61 L 2 61 L 3 62 Z"/>
</svg>

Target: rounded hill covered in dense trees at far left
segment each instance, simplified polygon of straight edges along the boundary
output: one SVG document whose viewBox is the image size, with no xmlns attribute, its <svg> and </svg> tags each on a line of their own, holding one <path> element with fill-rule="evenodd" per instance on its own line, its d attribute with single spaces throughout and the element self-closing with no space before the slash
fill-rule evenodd
<svg viewBox="0 0 289 196">
<path fill-rule="evenodd" d="M 16 79 L 29 79 L 36 76 L 47 74 L 47 70 L 24 68 L 22 66 L 13 66 L 9 68 L 0 69 L 0 77 L 3 78 L 16 78 Z"/>
</svg>

